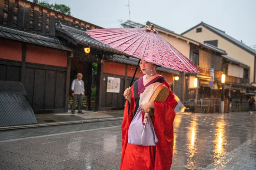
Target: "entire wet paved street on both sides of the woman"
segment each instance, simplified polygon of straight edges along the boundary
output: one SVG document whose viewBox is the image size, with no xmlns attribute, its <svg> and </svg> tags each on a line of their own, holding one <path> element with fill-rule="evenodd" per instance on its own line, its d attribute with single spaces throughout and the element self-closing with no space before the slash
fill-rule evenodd
<svg viewBox="0 0 256 170">
<path fill-rule="evenodd" d="M 0 131 L 1 170 L 114 170 L 121 120 Z M 255 170 L 256 113 L 177 115 L 172 170 Z"/>
</svg>

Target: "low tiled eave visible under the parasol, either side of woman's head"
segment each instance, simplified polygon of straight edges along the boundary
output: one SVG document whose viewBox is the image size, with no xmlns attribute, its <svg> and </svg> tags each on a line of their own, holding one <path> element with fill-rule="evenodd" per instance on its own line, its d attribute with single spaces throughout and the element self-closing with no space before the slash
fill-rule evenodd
<svg viewBox="0 0 256 170">
<path fill-rule="evenodd" d="M 111 59 L 111 58 L 109 58 L 109 59 Z M 130 65 L 134 65 L 134 66 L 137 66 L 138 61 L 139 61 L 138 58 L 135 58 L 135 57 L 127 58 L 127 57 L 121 56 L 121 55 L 113 55 L 112 60 L 115 61 L 115 62 L 130 64 Z M 178 71 L 172 70 L 172 69 L 169 69 L 169 68 L 165 68 L 165 67 L 157 67 L 156 70 L 157 71 L 168 72 L 168 73 L 173 73 L 173 74 L 179 74 Z"/>
</svg>

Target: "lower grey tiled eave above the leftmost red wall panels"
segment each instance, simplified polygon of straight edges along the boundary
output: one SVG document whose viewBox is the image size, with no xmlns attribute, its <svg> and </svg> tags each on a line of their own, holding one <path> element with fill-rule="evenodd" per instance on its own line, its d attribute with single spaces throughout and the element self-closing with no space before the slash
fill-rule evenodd
<svg viewBox="0 0 256 170">
<path fill-rule="evenodd" d="M 69 48 L 62 45 L 57 38 L 20 31 L 13 28 L 9 28 L 9 27 L 4 27 L 1 25 L 0 25 L 0 37 L 71 51 Z"/>
</svg>

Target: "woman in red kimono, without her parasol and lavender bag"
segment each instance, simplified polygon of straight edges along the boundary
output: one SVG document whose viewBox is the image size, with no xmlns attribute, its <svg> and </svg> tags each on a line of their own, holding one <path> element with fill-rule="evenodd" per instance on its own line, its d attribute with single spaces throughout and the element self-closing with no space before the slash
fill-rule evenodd
<svg viewBox="0 0 256 170">
<path fill-rule="evenodd" d="M 141 60 L 140 68 L 144 76 L 134 83 L 131 89 L 126 89 L 127 97 L 122 123 L 122 158 L 121 170 L 170 170 L 173 159 L 173 121 L 174 109 L 177 101 L 174 99 L 170 85 L 165 78 L 157 75 L 156 65 Z M 140 95 L 147 86 L 160 82 L 170 90 L 165 103 L 147 102 L 141 106 L 142 118 L 148 109 L 154 109 L 154 117 L 151 118 L 154 130 L 159 142 L 156 146 L 131 145 L 128 143 L 128 129 L 134 114 L 139 108 Z M 142 120 L 143 121 L 143 120 Z"/>
</svg>

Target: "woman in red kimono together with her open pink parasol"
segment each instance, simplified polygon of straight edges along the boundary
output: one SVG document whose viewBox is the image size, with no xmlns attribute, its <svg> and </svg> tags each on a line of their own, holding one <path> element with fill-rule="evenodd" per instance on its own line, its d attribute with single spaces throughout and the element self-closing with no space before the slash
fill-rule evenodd
<svg viewBox="0 0 256 170">
<path fill-rule="evenodd" d="M 177 101 L 175 101 L 173 92 L 170 90 L 170 85 L 163 76 L 157 75 L 155 68 L 161 66 L 186 72 L 200 72 L 200 69 L 164 40 L 155 31 L 152 24 L 145 26 L 145 28 L 94 29 L 86 31 L 86 33 L 109 46 L 109 48 L 139 59 L 130 88 L 127 88 L 124 92 L 127 101 L 121 126 L 122 157 L 120 169 L 170 170 L 174 144 L 174 109 L 177 106 Z M 139 66 L 145 75 L 132 85 Z M 165 102 L 145 102 L 139 106 L 138 103 L 141 103 L 141 100 L 146 101 L 144 98 L 152 95 L 147 93 L 147 88 L 154 84 L 161 84 L 169 89 Z M 141 109 L 140 113 L 143 114 L 143 116 L 140 116 L 142 118 L 145 116 L 145 119 L 144 121 L 143 119 L 139 120 L 138 125 L 144 125 L 145 120 L 148 120 L 154 126 L 154 128 L 151 126 L 151 132 L 154 132 L 153 136 L 155 137 L 152 145 L 137 145 L 131 142 L 131 138 L 129 138 L 129 128 L 131 128 L 131 123 L 134 123 L 132 120 L 133 118 L 135 119 L 134 116 L 137 115 L 135 113 L 139 108 Z M 147 118 L 150 110 L 154 113 L 152 119 L 150 119 L 150 116 Z M 145 123 L 144 127 L 152 124 Z M 141 143 L 142 136 L 147 133 L 146 131 L 144 133 L 143 130 L 142 134 L 140 134 Z"/>
</svg>

